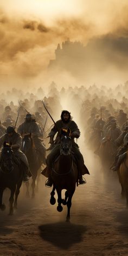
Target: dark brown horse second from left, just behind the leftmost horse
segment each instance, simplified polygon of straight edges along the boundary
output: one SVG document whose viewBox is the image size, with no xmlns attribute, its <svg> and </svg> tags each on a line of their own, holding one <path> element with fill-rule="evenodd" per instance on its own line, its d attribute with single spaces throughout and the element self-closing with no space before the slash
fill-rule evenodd
<svg viewBox="0 0 128 256">
<path fill-rule="evenodd" d="M 39 152 L 35 149 L 33 138 L 30 135 L 25 135 L 22 141 L 22 152 L 28 159 L 29 168 L 32 174 L 33 182 L 31 184 L 32 187 L 32 197 L 35 197 L 35 182 L 38 175 L 38 171 L 41 168 L 42 160 L 39 155 Z M 27 185 L 27 196 L 29 196 L 29 182 Z"/>
</svg>

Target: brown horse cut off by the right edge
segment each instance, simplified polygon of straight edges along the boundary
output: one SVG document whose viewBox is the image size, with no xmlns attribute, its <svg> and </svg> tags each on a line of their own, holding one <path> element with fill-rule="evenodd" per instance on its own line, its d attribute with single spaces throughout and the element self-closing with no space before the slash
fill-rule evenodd
<svg viewBox="0 0 128 256">
<path fill-rule="evenodd" d="M 121 184 L 121 196 L 126 197 L 126 204 L 128 207 L 128 151 L 126 152 L 126 159 L 120 164 L 117 173 L 119 183 Z"/>
</svg>

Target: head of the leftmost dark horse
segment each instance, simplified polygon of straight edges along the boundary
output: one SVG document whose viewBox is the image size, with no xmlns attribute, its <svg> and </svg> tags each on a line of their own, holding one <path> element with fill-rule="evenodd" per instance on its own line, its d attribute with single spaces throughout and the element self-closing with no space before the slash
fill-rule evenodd
<svg viewBox="0 0 128 256">
<path fill-rule="evenodd" d="M 13 157 L 13 151 L 11 148 L 11 144 L 4 142 L 3 149 L 1 151 L 0 165 L 1 165 L 1 170 L 5 174 L 9 174 L 14 169 L 12 157 Z"/>
</svg>

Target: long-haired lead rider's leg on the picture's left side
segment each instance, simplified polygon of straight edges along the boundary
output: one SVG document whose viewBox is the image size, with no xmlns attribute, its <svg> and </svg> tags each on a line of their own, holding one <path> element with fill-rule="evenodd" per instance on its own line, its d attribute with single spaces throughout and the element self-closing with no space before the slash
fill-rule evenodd
<svg viewBox="0 0 128 256">
<path fill-rule="evenodd" d="M 60 144 L 56 144 L 53 150 L 49 153 L 46 159 L 47 168 L 48 168 L 48 180 L 46 182 L 47 187 L 52 187 L 53 180 L 52 180 L 52 168 L 55 159 L 60 155 Z"/>
</svg>

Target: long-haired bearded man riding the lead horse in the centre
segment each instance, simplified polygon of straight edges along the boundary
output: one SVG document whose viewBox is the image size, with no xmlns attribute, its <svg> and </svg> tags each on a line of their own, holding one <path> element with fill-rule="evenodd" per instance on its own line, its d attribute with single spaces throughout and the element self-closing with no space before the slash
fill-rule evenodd
<svg viewBox="0 0 128 256">
<path fill-rule="evenodd" d="M 67 110 L 63 110 L 61 113 L 61 119 L 56 121 L 53 129 L 50 131 L 48 135 L 48 137 L 50 137 L 49 144 L 53 146 L 53 149 L 47 156 L 47 160 L 46 160 L 47 169 L 48 169 L 47 171 L 48 180 L 46 182 L 47 187 L 52 187 L 53 163 L 55 162 L 55 159 L 60 155 L 60 131 L 61 129 L 68 129 L 68 128 L 71 130 L 72 150 L 73 150 L 74 157 L 76 159 L 76 164 L 78 167 L 79 184 L 86 183 L 86 181 L 82 178 L 82 175 L 89 174 L 89 171 L 84 164 L 84 158 L 79 150 L 79 146 L 74 141 L 74 138 L 78 139 L 80 137 L 80 130 L 78 129 L 78 126 L 76 125 L 76 123 L 72 120 L 71 113 L 69 113 Z M 57 136 L 54 142 L 54 136 L 56 133 L 57 133 Z"/>
</svg>

